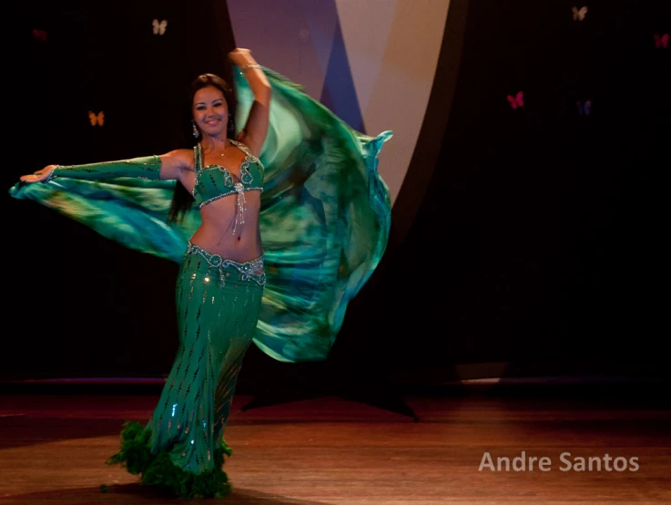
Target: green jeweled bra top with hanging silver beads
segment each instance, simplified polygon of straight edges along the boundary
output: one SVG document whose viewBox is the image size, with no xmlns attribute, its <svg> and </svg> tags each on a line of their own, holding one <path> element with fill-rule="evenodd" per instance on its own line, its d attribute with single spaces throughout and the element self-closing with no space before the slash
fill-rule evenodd
<svg viewBox="0 0 671 505">
<path fill-rule="evenodd" d="M 263 164 L 245 144 L 236 140 L 230 140 L 230 143 L 245 153 L 245 159 L 240 164 L 239 180 L 237 175 L 221 165 L 203 167 L 203 150 L 198 143 L 193 148 L 196 180 L 191 194 L 198 209 L 201 209 L 212 201 L 237 193 L 238 205 L 233 223 L 235 232 L 238 225 L 245 222 L 245 191 L 263 191 Z"/>
</svg>

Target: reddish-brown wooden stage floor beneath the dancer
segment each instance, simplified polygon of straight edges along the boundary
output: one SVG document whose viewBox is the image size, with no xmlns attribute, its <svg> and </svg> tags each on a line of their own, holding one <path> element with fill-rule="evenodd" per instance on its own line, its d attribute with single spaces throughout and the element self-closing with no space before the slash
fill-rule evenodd
<svg viewBox="0 0 671 505">
<path fill-rule="evenodd" d="M 234 490 L 220 502 L 671 503 L 666 386 L 403 397 L 418 422 L 342 397 L 250 409 L 242 408 L 250 397 L 236 397 L 225 466 Z M 123 421 L 146 421 L 157 399 L 158 390 L 2 393 L 0 503 L 203 503 L 167 500 L 104 464 Z M 504 459 L 516 469 L 497 469 Z"/>
</svg>

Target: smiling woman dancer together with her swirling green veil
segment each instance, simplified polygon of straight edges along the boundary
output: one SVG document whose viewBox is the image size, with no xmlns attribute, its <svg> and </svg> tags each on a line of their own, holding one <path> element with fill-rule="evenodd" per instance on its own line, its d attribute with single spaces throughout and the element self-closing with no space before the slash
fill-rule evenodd
<svg viewBox="0 0 671 505">
<path fill-rule="evenodd" d="M 250 342 L 282 361 L 325 359 L 390 225 L 376 168 L 391 132 L 350 129 L 248 49 L 229 60 L 236 97 L 211 74 L 192 85 L 193 149 L 48 165 L 10 191 L 180 262 L 178 354 L 149 422 L 127 423 L 108 463 L 185 498 L 230 490 L 223 431 Z"/>
</svg>

